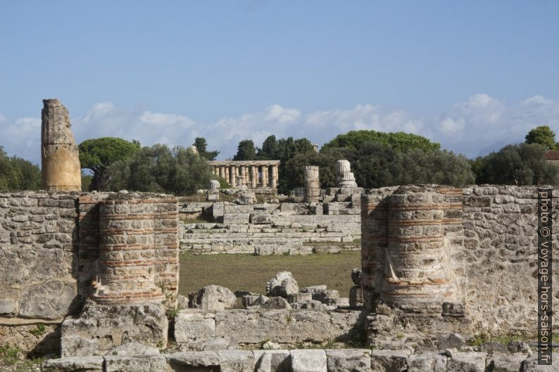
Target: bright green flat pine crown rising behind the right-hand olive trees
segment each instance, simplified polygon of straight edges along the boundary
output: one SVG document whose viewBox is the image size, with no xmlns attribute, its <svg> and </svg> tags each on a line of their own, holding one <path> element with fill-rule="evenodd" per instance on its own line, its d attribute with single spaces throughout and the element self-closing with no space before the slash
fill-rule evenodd
<svg viewBox="0 0 559 372">
<path fill-rule="evenodd" d="M 339 136 L 332 139 L 332 141 L 325 143 L 320 150 L 324 151 L 332 147 L 360 148 L 365 142 L 380 142 L 384 145 L 390 145 L 396 152 L 419 148 L 428 153 L 441 149 L 439 143 L 431 142 L 429 139 L 418 136 L 417 134 L 360 130 L 339 134 Z"/>
</svg>

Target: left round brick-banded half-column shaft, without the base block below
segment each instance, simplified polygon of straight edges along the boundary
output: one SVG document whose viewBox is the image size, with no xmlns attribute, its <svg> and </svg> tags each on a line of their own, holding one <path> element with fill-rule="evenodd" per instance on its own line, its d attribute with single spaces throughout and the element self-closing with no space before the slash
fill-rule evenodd
<svg viewBox="0 0 559 372">
<path fill-rule="evenodd" d="M 94 283 L 95 302 L 163 301 L 165 296 L 155 283 L 154 207 L 153 199 L 130 198 L 120 193 L 101 202 L 101 267 L 98 282 Z"/>
</svg>

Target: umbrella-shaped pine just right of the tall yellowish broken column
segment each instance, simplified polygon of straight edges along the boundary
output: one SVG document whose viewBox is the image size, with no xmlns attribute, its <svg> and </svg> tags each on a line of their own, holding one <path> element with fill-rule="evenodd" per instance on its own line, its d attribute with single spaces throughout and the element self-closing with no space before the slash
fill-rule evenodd
<svg viewBox="0 0 559 372">
<path fill-rule="evenodd" d="M 138 141 L 129 142 L 115 137 L 87 139 L 78 147 L 81 167 L 93 172 L 91 186 L 97 191 L 103 191 L 106 187 L 107 168 L 115 162 L 130 158 L 140 148 Z"/>
</svg>

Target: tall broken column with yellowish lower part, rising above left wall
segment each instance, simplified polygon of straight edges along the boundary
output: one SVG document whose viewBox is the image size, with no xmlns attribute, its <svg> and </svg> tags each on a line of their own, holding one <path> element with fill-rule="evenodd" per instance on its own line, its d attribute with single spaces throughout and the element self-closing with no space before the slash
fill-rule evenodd
<svg viewBox="0 0 559 372">
<path fill-rule="evenodd" d="M 44 99 L 41 124 L 42 188 L 81 191 L 80 155 L 70 129 L 68 110 L 58 99 Z"/>
</svg>

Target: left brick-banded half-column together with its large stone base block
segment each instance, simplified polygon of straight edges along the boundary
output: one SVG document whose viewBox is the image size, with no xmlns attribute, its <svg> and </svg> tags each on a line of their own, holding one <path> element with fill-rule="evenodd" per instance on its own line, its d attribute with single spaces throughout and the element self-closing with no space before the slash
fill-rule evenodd
<svg viewBox="0 0 559 372">
<path fill-rule="evenodd" d="M 178 282 L 177 219 L 177 200 L 165 195 L 101 201 L 93 293 L 77 319 L 63 321 L 62 357 L 103 355 L 130 342 L 165 347 L 165 306 L 174 306 Z"/>
</svg>

